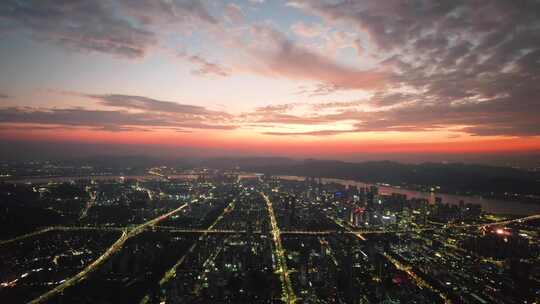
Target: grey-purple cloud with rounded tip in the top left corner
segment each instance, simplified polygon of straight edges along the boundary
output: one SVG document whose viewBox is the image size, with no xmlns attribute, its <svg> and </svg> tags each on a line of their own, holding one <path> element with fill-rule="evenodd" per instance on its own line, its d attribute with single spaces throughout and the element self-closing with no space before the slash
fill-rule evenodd
<svg viewBox="0 0 540 304">
<path fill-rule="evenodd" d="M 33 38 L 70 49 L 140 57 L 155 35 L 117 18 L 101 1 L 15 1 L 0 4 L 0 17 Z"/>
</svg>

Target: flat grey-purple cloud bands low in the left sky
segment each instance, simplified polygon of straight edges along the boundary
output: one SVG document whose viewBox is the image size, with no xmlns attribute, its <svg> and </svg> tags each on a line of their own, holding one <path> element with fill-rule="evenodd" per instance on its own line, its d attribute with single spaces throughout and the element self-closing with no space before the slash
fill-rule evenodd
<svg viewBox="0 0 540 304">
<path fill-rule="evenodd" d="M 180 105 L 140 96 L 92 95 L 103 104 L 126 110 L 87 110 L 81 108 L 40 109 L 12 107 L 0 109 L 0 123 L 4 125 L 54 125 L 64 128 L 82 127 L 103 131 L 133 131 L 152 129 L 216 129 L 231 130 L 231 124 L 221 112 L 202 107 Z M 130 112 L 127 109 L 145 110 Z"/>
</svg>

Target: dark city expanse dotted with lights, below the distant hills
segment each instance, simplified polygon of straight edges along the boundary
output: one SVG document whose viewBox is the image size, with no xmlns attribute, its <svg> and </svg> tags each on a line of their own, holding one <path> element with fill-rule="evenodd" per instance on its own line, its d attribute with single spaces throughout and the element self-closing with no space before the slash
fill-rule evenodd
<svg viewBox="0 0 540 304">
<path fill-rule="evenodd" d="M 540 221 L 377 185 L 155 167 L 4 182 L 9 303 L 533 303 Z M 32 218 L 32 216 L 30 216 Z"/>
</svg>

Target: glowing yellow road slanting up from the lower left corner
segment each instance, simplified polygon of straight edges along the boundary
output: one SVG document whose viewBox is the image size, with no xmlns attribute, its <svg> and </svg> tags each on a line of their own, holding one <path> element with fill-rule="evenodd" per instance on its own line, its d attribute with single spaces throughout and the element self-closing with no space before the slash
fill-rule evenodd
<svg viewBox="0 0 540 304">
<path fill-rule="evenodd" d="M 107 261 L 115 253 L 120 251 L 120 249 L 122 249 L 122 246 L 124 245 L 124 243 L 129 238 L 134 237 L 137 234 L 143 232 L 148 227 L 156 225 L 160 221 L 162 221 L 162 220 L 168 218 L 169 216 L 181 211 L 182 209 L 186 208 L 187 206 L 188 206 L 188 204 L 183 204 L 182 206 L 174 209 L 173 211 L 168 212 L 166 214 L 163 214 L 161 216 L 158 216 L 155 219 L 152 219 L 152 220 L 150 220 L 148 222 L 145 222 L 145 223 L 143 223 L 143 224 L 141 224 L 139 226 L 136 226 L 135 228 L 133 228 L 131 230 L 127 230 L 127 229 L 124 230 L 122 232 L 122 236 L 120 236 L 120 238 L 116 242 L 114 242 L 114 244 L 112 244 L 111 247 L 109 247 L 109 249 L 107 249 L 100 257 L 98 257 L 96 260 L 94 260 L 91 264 L 86 266 L 86 268 L 84 268 L 81 272 L 79 272 L 75 276 L 65 280 L 64 283 L 56 286 L 52 290 L 49 290 L 48 292 L 44 293 L 40 297 L 32 300 L 30 303 L 32 303 L 32 304 L 33 303 L 43 303 L 43 302 L 45 302 L 47 300 L 52 299 L 54 296 L 62 293 L 66 288 L 68 288 L 70 286 L 73 286 L 73 285 L 76 285 L 76 284 L 80 283 L 81 281 L 85 280 L 90 273 L 94 272 L 101 264 L 103 264 L 105 261 Z"/>
</svg>

